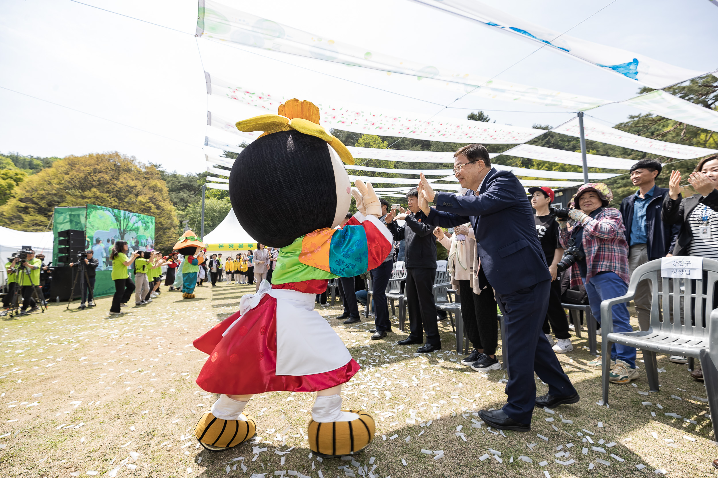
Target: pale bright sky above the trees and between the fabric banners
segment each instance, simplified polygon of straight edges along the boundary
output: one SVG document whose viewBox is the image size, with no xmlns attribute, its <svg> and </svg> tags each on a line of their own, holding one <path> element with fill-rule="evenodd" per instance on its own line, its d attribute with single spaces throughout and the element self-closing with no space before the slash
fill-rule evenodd
<svg viewBox="0 0 718 478">
<path fill-rule="evenodd" d="M 2 152 L 66 156 L 118 150 L 169 170 L 202 171 L 206 111 L 208 105 L 213 109 L 205 94 L 203 69 L 258 89 L 266 87 L 267 92 L 308 100 L 311 95 L 327 95 L 427 118 L 437 113 L 436 105 L 394 92 L 440 104 L 457 96 L 429 92 L 414 77 L 382 77 L 320 60 L 195 39 L 196 1 L 85 1 L 179 32 L 70 0 L 3 3 L 0 87 L 79 111 L 0 89 Z M 407 0 L 224 3 L 337 41 L 485 77 L 536 49 L 533 43 Z M 718 68 L 718 8 L 707 0 L 484 3 L 559 32 L 610 4 L 568 34 L 694 70 Z M 498 78 L 610 100 L 631 97 L 640 86 L 549 49 Z M 454 106 L 467 109 L 443 110 L 442 115 L 461 118 L 469 110 L 483 109 L 498 123 L 527 127 L 558 125 L 571 117 L 557 108 L 480 97 L 467 97 Z M 640 112 L 610 105 L 589 114 L 613 124 L 635 113 Z"/>
</svg>

